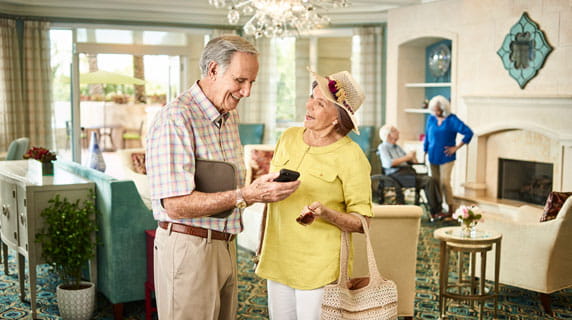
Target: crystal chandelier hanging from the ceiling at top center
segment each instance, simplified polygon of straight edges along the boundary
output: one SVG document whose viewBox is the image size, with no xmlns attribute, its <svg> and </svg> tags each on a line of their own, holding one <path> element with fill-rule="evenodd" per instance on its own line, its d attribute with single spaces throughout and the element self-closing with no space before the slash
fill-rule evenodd
<svg viewBox="0 0 572 320">
<path fill-rule="evenodd" d="M 349 0 L 209 0 L 215 8 L 227 8 L 228 22 L 236 25 L 242 16 L 250 17 L 244 33 L 255 38 L 284 37 L 308 33 L 330 23 L 318 9 L 349 7 Z"/>
</svg>

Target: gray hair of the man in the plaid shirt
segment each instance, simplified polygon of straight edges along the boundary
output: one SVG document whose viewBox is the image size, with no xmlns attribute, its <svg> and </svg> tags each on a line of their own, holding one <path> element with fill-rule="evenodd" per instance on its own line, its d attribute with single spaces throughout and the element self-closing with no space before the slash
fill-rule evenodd
<svg viewBox="0 0 572 320">
<path fill-rule="evenodd" d="M 258 55 L 256 48 L 248 40 L 235 36 L 223 35 L 212 39 L 207 43 L 201 55 L 199 66 L 201 67 L 201 75 L 206 77 L 209 71 L 209 64 L 215 62 L 224 73 L 230 64 L 230 59 L 235 52 L 250 53 Z"/>
</svg>

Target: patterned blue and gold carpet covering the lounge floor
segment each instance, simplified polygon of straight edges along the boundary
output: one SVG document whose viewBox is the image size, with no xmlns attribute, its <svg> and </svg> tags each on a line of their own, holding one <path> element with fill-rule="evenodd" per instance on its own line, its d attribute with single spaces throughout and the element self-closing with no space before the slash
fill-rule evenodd
<svg viewBox="0 0 572 320">
<path fill-rule="evenodd" d="M 422 221 L 417 256 L 417 295 L 415 319 L 438 319 L 438 269 L 439 244 L 433 238 L 433 230 L 451 222 L 429 223 Z M 253 272 L 252 255 L 239 249 L 239 316 L 238 319 L 267 319 L 266 285 Z M 29 288 L 25 302 L 19 298 L 16 262 L 9 257 L 10 274 L 0 268 L 0 319 L 24 319 L 31 316 Z M 60 319 L 56 306 L 57 278 L 49 273 L 47 265 L 38 266 L 38 317 Z M 545 315 L 538 295 L 527 290 L 501 285 L 498 319 L 572 319 L 572 289 L 552 294 L 554 317 Z M 492 319 L 492 302 L 487 302 L 485 319 Z M 125 319 L 145 319 L 143 301 L 128 303 Z M 103 296 L 98 297 L 94 319 L 113 319 L 112 306 Z M 449 308 L 449 319 L 477 319 L 477 312 L 466 305 L 455 304 Z"/>
</svg>

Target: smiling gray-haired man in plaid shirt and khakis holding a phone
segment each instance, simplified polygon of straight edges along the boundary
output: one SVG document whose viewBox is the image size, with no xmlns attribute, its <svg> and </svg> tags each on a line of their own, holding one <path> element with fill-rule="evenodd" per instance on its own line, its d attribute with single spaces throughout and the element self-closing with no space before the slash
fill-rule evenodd
<svg viewBox="0 0 572 320">
<path fill-rule="evenodd" d="M 147 135 L 147 173 L 153 215 L 155 293 L 159 319 L 236 319 L 235 235 L 241 209 L 280 201 L 299 185 L 264 175 L 246 187 L 217 193 L 195 190 L 196 159 L 233 163 L 244 181 L 238 103 L 250 95 L 258 53 L 238 36 L 204 48 L 201 79 L 161 109 Z M 224 218 L 213 215 L 234 210 Z M 219 215 L 220 216 L 220 215 Z"/>
</svg>

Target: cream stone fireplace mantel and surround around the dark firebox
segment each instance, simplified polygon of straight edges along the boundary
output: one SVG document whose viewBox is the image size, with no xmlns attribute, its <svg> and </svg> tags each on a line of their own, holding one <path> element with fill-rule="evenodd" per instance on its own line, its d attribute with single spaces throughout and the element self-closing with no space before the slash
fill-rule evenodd
<svg viewBox="0 0 572 320">
<path fill-rule="evenodd" d="M 497 154 L 550 161 L 554 190 L 572 190 L 572 96 L 471 95 L 459 104 L 475 133 L 462 170 L 466 191 L 495 197 Z"/>
</svg>

